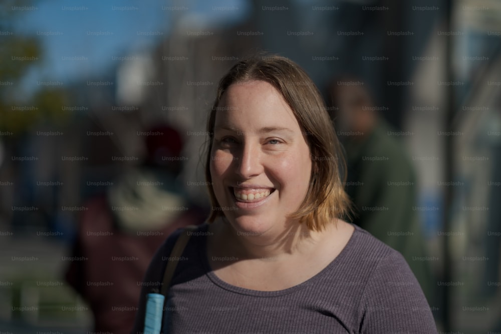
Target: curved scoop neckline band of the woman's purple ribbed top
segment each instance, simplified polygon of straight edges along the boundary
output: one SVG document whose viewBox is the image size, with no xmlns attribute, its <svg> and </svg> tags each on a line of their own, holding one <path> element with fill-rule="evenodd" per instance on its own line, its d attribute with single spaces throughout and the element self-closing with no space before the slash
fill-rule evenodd
<svg viewBox="0 0 501 334">
<path fill-rule="evenodd" d="M 243 295 L 249 295 L 249 296 L 256 296 L 256 297 L 276 297 L 276 296 L 282 296 L 285 294 L 293 293 L 296 292 L 300 289 L 307 288 L 308 286 L 314 286 L 316 285 L 315 281 L 320 280 L 322 277 L 326 275 L 327 272 L 330 272 L 333 270 L 334 266 L 339 266 L 342 261 L 349 257 L 350 252 L 353 250 L 353 244 L 356 243 L 356 238 L 359 236 L 360 233 L 363 233 L 364 230 L 362 230 L 360 227 L 357 225 L 351 224 L 354 227 L 354 230 L 348 239 L 348 242 L 346 245 L 343 247 L 341 252 L 334 258 L 327 266 L 325 266 L 322 270 L 320 270 L 318 273 L 316 273 L 314 276 L 308 278 L 306 281 L 301 282 L 297 285 L 288 287 L 286 289 L 282 290 L 275 290 L 275 291 L 262 291 L 262 290 L 253 290 L 253 289 L 247 289 L 243 288 L 240 286 L 236 286 L 230 283 L 225 282 L 221 278 L 219 278 L 212 268 L 210 267 L 208 257 L 207 257 L 207 233 L 203 233 L 203 238 L 200 240 L 201 242 L 197 242 L 197 253 L 198 253 L 198 259 L 200 264 L 202 265 L 205 275 L 214 283 L 216 286 L 233 292 L 233 293 L 238 293 L 238 294 L 243 294 Z M 202 225 L 202 231 L 207 232 L 208 229 L 208 224 L 203 224 Z"/>
</svg>

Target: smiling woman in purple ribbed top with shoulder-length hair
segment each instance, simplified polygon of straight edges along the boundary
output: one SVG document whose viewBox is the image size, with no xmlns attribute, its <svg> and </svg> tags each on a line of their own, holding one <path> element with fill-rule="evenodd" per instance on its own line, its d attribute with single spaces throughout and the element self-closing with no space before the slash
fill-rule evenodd
<svg viewBox="0 0 501 334">
<path fill-rule="evenodd" d="M 240 61 L 219 83 L 207 133 L 213 210 L 179 257 L 164 332 L 436 332 L 402 256 L 340 219 L 349 206 L 341 151 L 298 65 Z M 150 264 L 133 332 L 180 235 Z"/>
</svg>

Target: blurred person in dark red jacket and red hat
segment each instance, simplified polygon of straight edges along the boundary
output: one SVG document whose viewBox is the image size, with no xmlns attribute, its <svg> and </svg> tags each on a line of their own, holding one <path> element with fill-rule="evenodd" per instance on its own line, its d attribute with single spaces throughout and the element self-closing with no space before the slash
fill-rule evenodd
<svg viewBox="0 0 501 334">
<path fill-rule="evenodd" d="M 125 333 L 153 254 L 174 230 L 203 222 L 186 200 L 178 176 L 183 141 L 167 125 L 149 130 L 147 158 L 102 196 L 85 203 L 66 280 L 92 309 L 96 332 Z"/>
</svg>

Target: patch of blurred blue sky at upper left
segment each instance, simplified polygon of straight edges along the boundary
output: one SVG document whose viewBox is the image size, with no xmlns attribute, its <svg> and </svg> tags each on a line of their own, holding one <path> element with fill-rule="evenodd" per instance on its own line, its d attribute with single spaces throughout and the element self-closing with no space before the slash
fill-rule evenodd
<svg viewBox="0 0 501 334">
<path fill-rule="evenodd" d="M 112 57 L 150 50 L 165 38 L 172 15 L 221 23 L 244 17 L 248 9 L 246 0 L 42 0 L 35 6 L 37 10 L 18 15 L 16 25 L 18 32 L 38 34 L 44 45 L 43 66 L 32 71 L 28 83 L 95 78 L 116 63 Z M 176 6 L 183 10 L 173 11 Z M 214 11 L 214 6 L 239 10 Z M 145 36 L 150 33 L 163 35 Z"/>
</svg>

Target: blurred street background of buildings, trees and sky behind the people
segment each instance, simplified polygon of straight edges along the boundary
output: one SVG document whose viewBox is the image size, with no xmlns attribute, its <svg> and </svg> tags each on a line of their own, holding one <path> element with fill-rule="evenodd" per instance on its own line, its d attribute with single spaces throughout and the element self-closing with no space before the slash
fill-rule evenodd
<svg viewBox="0 0 501 334">
<path fill-rule="evenodd" d="M 417 173 L 415 260 L 439 331 L 501 332 L 498 0 L 4 0 L 2 332 L 93 330 L 65 279 L 78 224 L 148 159 L 156 125 L 182 137 L 179 193 L 210 209 L 206 115 L 219 78 L 259 51 L 300 64 L 326 99 L 333 78 L 363 80 Z"/>
</svg>

